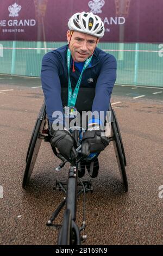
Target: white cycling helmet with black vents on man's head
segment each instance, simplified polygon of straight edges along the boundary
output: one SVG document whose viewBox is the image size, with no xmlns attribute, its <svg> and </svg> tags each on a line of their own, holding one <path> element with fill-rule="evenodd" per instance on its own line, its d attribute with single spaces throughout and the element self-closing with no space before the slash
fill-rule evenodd
<svg viewBox="0 0 163 256">
<path fill-rule="evenodd" d="M 101 18 L 93 13 L 76 13 L 68 21 L 68 28 L 89 35 L 102 38 L 104 35 L 104 23 Z"/>
</svg>

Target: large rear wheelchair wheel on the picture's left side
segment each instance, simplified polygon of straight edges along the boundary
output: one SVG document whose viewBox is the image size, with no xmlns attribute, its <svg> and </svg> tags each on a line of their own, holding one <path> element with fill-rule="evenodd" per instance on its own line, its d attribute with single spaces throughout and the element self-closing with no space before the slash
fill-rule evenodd
<svg viewBox="0 0 163 256">
<path fill-rule="evenodd" d="M 30 176 L 32 174 L 37 155 L 39 153 L 40 145 L 42 142 L 42 130 L 46 123 L 46 111 L 45 111 L 45 104 L 42 105 L 39 118 L 37 118 L 32 137 L 30 138 L 29 147 L 27 151 L 26 157 L 26 169 L 23 176 L 22 187 L 26 189 L 27 185 L 29 184 Z"/>
</svg>

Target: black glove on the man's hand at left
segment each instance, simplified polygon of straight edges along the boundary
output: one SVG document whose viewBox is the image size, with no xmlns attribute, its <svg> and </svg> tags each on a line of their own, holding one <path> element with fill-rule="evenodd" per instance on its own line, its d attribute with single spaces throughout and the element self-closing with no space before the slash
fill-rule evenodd
<svg viewBox="0 0 163 256">
<path fill-rule="evenodd" d="M 72 137 L 71 133 L 64 128 L 64 130 L 57 130 L 54 131 L 51 126 L 50 134 L 51 138 L 51 145 L 52 147 L 58 148 L 60 154 L 65 157 L 65 159 L 74 160 L 77 158 L 77 151 L 74 147 L 76 142 Z"/>
</svg>

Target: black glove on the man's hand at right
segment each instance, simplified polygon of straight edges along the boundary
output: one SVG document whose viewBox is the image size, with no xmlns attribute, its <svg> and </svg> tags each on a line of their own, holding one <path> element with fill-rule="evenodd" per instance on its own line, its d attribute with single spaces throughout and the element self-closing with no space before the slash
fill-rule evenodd
<svg viewBox="0 0 163 256">
<path fill-rule="evenodd" d="M 109 138 L 102 136 L 103 132 L 99 126 L 89 128 L 83 134 L 82 138 L 82 154 L 88 156 L 90 153 L 100 153 L 109 145 Z"/>
</svg>

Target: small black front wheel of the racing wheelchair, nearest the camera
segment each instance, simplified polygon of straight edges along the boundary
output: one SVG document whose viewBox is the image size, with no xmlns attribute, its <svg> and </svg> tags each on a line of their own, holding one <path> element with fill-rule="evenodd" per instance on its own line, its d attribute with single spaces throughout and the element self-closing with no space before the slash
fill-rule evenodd
<svg viewBox="0 0 163 256">
<path fill-rule="evenodd" d="M 58 237 L 58 245 L 80 245 L 80 231 L 71 219 L 69 209 L 65 210 L 64 221 Z"/>
</svg>

